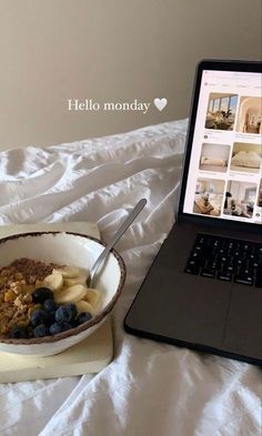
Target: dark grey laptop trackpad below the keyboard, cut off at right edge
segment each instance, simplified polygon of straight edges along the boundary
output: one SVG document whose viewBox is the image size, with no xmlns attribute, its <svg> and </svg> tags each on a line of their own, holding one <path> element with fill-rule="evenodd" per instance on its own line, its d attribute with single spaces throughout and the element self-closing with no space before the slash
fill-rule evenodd
<svg viewBox="0 0 262 436">
<path fill-rule="evenodd" d="M 262 290 L 235 285 L 226 322 L 224 346 L 262 358 Z"/>
</svg>

